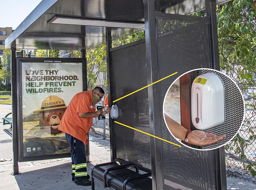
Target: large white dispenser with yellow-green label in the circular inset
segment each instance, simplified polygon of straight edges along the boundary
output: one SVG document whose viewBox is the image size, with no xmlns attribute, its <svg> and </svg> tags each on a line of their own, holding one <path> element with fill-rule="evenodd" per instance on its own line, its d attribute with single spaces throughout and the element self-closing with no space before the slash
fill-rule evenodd
<svg viewBox="0 0 256 190">
<path fill-rule="evenodd" d="M 191 89 L 193 125 L 208 129 L 225 121 L 225 89 L 222 79 L 209 72 L 194 79 Z"/>
</svg>

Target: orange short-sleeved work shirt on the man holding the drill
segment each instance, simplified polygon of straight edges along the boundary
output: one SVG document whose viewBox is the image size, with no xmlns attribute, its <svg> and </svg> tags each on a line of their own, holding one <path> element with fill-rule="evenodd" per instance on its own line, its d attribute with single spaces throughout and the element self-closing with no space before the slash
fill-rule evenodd
<svg viewBox="0 0 256 190">
<path fill-rule="evenodd" d="M 70 101 L 58 129 L 87 144 L 87 134 L 92 126 L 93 117 L 81 118 L 79 113 L 95 111 L 92 103 L 92 91 L 77 93 Z"/>
</svg>

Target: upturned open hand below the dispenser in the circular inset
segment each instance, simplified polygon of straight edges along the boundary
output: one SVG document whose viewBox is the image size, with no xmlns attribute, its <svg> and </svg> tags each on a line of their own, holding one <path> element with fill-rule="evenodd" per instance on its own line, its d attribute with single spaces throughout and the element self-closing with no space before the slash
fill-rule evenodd
<svg viewBox="0 0 256 190">
<path fill-rule="evenodd" d="M 197 146 L 209 146 L 225 138 L 226 135 L 216 136 L 199 130 L 191 131 L 187 135 L 188 143 Z"/>
</svg>

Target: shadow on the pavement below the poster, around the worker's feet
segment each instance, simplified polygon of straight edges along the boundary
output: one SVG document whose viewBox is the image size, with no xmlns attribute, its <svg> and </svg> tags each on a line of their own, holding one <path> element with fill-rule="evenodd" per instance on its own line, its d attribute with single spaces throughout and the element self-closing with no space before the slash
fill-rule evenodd
<svg viewBox="0 0 256 190">
<path fill-rule="evenodd" d="M 92 164 L 87 165 L 87 172 L 91 176 Z M 76 185 L 71 178 L 71 163 L 60 164 L 39 170 L 24 172 L 15 175 L 15 179 L 20 190 L 34 189 L 91 189 L 91 186 Z M 102 184 L 95 181 L 97 190 L 102 188 Z M 103 188 L 102 188 L 103 189 Z"/>
</svg>

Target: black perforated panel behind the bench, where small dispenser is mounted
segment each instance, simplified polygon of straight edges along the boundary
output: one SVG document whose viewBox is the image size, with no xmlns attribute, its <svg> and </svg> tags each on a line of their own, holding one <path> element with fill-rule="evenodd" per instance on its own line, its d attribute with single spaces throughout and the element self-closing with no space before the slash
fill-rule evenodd
<svg viewBox="0 0 256 190">
<path fill-rule="evenodd" d="M 143 43 L 112 51 L 113 100 L 147 85 L 146 45 Z M 144 132 L 149 130 L 148 89 L 117 101 L 120 123 Z M 114 123 L 116 158 L 151 169 L 150 138 Z"/>
</svg>

